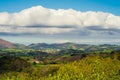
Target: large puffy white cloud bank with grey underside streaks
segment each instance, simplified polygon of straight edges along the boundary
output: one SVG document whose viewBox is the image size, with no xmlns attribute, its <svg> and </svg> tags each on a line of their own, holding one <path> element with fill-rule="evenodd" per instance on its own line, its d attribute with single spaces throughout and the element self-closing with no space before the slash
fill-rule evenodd
<svg viewBox="0 0 120 80">
<path fill-rule="evenodd" d="M 0 12 L 0 33 L 119 35 L 120 16 L 34 6 L 16 13 Z"/>
</svg>

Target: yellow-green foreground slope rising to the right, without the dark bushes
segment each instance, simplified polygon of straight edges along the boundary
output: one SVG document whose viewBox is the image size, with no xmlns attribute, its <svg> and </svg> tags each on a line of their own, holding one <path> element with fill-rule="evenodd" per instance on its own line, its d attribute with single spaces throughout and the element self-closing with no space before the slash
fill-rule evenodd
<svg viewBox="0 0 120 80">
<path fill-rule="evenodd" d="M 57 65 L 4 73 L 0 80 L 120 80 L 120 61 L 116 57 L 87 56 Z"/>
</svg>

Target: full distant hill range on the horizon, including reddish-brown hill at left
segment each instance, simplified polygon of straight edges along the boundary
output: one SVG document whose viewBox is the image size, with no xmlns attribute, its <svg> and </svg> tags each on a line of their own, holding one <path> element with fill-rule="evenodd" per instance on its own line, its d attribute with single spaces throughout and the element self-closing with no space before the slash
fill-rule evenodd
<svg viewBox="0 0 120 80">
<path fill-rule="evenodd" d="M 77 43 L 33 43 L 28 46 L 23 44 L 12 43 L 3 39 L 0 39 L 0 49 L 14 48 L 14 49 L 35 49 L 35 50 L 81 50 L 81 51 L 104 51 L 104 50 L 120 50 L 120 45 L 102 44 L 102 45 L 90 45 L 90 44 L 77 44 Z"/>
</svg>

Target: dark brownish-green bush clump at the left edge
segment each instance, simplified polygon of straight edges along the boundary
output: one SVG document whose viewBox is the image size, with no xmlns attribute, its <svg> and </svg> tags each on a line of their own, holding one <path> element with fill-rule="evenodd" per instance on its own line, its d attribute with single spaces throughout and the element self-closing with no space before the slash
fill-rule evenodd
<svg viewBox="0 0 120 80">
<path fill-rule="evenodd" d="M 30 67 L 30 64 L 19 57 L 4 56 L 0 58 L 0 73 L 9 71 L 22 71 L 25 68 Z"/>
</svg>

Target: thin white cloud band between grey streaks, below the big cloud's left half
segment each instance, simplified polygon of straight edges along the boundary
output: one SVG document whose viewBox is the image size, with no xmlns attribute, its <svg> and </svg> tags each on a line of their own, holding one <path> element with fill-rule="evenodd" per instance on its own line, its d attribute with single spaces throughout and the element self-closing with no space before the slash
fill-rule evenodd
<svg viewBox="0 0 120 80">
<path fill-rule="evenodd" d="M 14 26 L 0 26 L 0 32 L 25 34 L 25 33 L 44 33 L 44 34 L 59 34 L 73 31 L 73 28 L 27 28 L 27 27 L 14 27 Z"/>
</svg>

